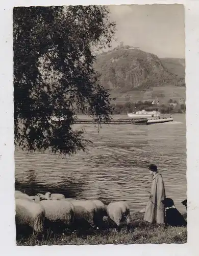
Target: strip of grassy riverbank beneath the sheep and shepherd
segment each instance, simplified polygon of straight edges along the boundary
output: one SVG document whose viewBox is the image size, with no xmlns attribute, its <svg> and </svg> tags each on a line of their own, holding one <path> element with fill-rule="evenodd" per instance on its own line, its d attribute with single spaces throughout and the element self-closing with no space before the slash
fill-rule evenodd
<svg viewBox="0 0 199 256">
<path fill-rule="evenodd" d="M 187 229 L 185 227 L 164 227 L 151 225 L 143 221 L 143 214 L 136 212 L 132 215 L 132 229 L 127 232 L 123 228 L 116 232 L 114 228 L 107 230 L 89 231 L 87 234 L 73 232 L 55 234 L 47 232 L 38 240 L 35 236 L 17 240 L 17 245 L 81 245 L 81 244 L 143 244 L 143 243 L 186 243 Z"/>
</svg>

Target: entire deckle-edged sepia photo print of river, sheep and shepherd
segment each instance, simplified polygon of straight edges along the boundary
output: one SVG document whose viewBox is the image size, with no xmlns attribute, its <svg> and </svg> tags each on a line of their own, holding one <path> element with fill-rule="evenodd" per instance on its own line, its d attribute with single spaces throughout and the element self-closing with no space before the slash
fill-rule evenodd
<svg viewBox="0 0 199 256">
<path fill-rule="evenodd" d="M 187 242 L 182 4 L 13 8 L 16 244 Z"/>
</svg>

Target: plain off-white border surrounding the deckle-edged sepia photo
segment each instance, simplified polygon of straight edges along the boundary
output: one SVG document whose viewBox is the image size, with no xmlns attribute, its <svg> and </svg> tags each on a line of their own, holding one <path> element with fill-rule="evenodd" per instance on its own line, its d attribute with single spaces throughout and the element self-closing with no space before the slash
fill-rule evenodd
<svg viewBox="0 0 199 256">
<path fill-rule="evenodd" d="M 12 8 L 14 6 L 51 5 L 120 5 L 120 4 L 185 4 L 186 16 L 186 121 L 187 121 L 187 186 L 188 242 L 172 245 L 81 245 L 34 246 L 15 245 L 14 222 L 14 130 L 13 130 L 13 52 Z M 2 255 L 198 255 L 199 229 L 199 3 L 198 1 L 151 0 L 48 0 L 2 1 L 1 26 L 1 84 L 0 84 L 0 253 Z M 180 171 L 180 170 L 179 170 Z"/>
</svg>

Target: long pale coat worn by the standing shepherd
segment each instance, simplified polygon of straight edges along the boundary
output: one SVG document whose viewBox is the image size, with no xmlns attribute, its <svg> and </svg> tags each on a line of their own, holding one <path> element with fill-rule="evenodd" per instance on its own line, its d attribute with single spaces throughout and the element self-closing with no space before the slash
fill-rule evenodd
<svg viewBox="0 0 199 256">
<path fill-rule="evenodd" d="M 162 176 L 160 173 L 156 173 L 153 176 L 152 181 L 151 199 L 145 208 L 145 221 L 157 224 L 164 223 L 165 207 L 161 201 L 164 200 L 165 197 L 166 195 Z"/>
</svg>

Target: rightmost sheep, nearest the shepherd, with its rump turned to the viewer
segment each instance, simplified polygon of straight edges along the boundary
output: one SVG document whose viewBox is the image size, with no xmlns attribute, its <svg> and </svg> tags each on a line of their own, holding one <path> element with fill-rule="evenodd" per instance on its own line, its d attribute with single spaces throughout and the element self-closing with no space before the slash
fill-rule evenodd
<svg viewBox="0 0 199 256">
<path fill-rule="evenodd" d="M 126 202 L 118 201 L 110 203 L 107 206 L 107 215 L 116 223 L 118 231 L 121 229 L 121 222 L 125 220 L 127 222 L 127 229 L 129 230 L 131 216 L 129 206 Z"/>
</svg>

